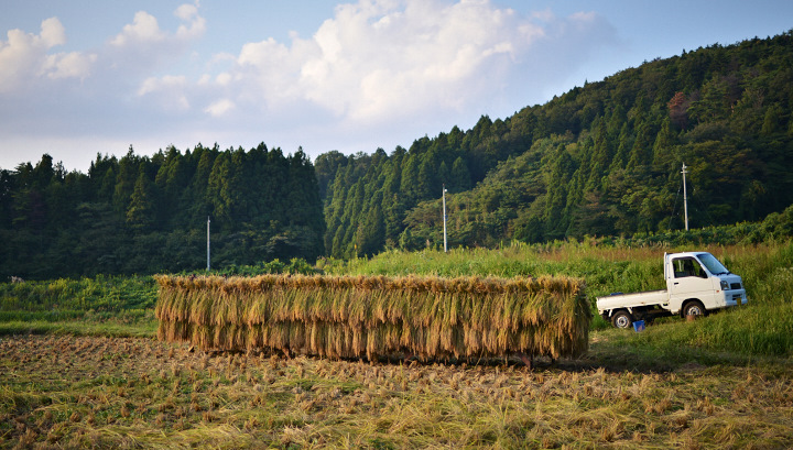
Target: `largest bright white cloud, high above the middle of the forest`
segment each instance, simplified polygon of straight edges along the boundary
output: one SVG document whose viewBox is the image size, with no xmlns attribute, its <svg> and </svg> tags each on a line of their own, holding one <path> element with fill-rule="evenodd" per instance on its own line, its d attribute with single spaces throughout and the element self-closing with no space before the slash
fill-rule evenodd
<svg viewBox="0 0 793 450">
<path fill-rule="evenodd" d="M 383 123 L 487 101 L 543 36 L 489 1 L 362 0 L 338 6 L 311 39 L 243 45 L 231 73 L 270 108 L 301 101 Z"/>
</svg>

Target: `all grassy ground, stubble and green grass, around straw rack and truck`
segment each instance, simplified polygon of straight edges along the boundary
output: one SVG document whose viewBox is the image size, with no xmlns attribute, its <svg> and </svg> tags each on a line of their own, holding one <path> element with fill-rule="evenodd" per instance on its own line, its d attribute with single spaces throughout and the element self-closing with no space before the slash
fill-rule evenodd
<svg viewBox="0 0 793 450">
<path fill-rule="evenodd" d="M 584 278 L 591 297 L 658 288 L 664 250 L 673 251 L 511 246 L 322 267 L 566 274 Z M 748 307 L 665 319 L 641 333 L 600 323 L 584 356 L 540 360 L 532 371 L 502 359 L 405 364 L 191 352 L 155 340 L 153 311 L 139 307 L 152 304 L 149 281 L 53 282 L 59 295 L 106 305 L 85 311 L 40 285 L 4 285 L 0 448 L 791 448 L 793 246 L 707 250 L 743 277 Z M 106 301 L 99 292 L 116 294 Z M 75 318 L 53 319 L 53 305 Z"/>
</svg>

